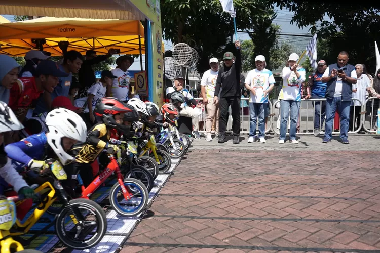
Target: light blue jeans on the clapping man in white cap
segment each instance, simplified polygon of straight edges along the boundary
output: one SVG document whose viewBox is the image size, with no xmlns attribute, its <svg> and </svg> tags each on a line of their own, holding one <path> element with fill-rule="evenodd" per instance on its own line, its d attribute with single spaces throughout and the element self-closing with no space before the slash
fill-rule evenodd
<svg viewBox="0 0 380 253">
<path fill-rule="evenodd" d="M 280 100 L 281 105 L 281 124 L 280 124 L 280 140 L 285 140 L 286 131 L 288 129 L 288 117 L 290 109 L 290 140 L 295 140 L 295 133 L 297 132 L 297 121 L 299 115 L 299 107 L 301 101 L 294 100 Z"/>
</svg>

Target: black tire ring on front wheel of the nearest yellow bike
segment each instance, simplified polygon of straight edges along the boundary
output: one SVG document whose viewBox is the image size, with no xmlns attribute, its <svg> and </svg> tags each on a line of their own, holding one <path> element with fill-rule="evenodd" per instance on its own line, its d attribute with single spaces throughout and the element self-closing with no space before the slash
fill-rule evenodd
<svg viewBox="0 0 380 253">
<path fill-rule="evenodd" d="M 105 235 L 105 232 L 107 231 L 107 218 L 105 216 L 103 208 L 101 208 L 100 205 L 98 205 L 96 202 L 83 198 L 70 200 L 69 204 L 69 206 L 62 209 L 62 212 L 57 216 L 56 219 L 55 232 L 57 233 L 58 238 L 62 241 L 63 244 L 73 249 L 88 249 L 94 247 L 101 241 Z M 87 212 L 93 214 L 96 220 L 97 229 L 94 233 L 93 238 L 86 238 L 82 241 L 77 241 L 73 238 L 69 238 L 68 234 L 65 232 L 64 225 L 66 214 L 70 214 L 70 209 L 80 207 L 87 209 Z"/>
</svg>

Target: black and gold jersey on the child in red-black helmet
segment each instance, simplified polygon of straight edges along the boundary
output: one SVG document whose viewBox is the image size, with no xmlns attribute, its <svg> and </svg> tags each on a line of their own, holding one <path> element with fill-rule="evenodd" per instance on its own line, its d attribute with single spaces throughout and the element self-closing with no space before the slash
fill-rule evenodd
<svg viewBox="0 0 380 253">
<path fill-rule="evenodd" d="M 98 123 L 88 132 L 85 143 L 74 144 L 71 152 L 75 155 L 75 162 L 92 163 L 100 152 L 107 146 L 111 138 L 111 131 L 105 124 Z"/>
</svg>

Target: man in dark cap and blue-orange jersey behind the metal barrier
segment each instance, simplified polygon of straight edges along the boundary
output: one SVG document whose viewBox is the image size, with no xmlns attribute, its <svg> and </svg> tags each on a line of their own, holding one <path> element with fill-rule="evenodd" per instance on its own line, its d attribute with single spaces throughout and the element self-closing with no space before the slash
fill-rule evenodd
<svg viewBox="0 0 380 253">
<path fill-rule="evenodd" d="M 326 87 L 327 82 L 322 82 L 322 76 L 325 73 L 325 70 L 327 68 L 326 62 L 324 60 L 320 60 L 318 62 L 318 67 L 315 73 L 311 74 L 308 78 L 308 96 L 306 98 L 309 98 L 309 89 L 311 88 L 311 98 L 312 99 L 323 99 L 326 95 Z M 314 108 L 314 135 L 318 136 L 322 134 L 322 125 L 325 121 L 325 115 L 326 115 L 326 101 L 321 102 L 315 102 L 313 103 L 315 105 Z M 321 119 L 321 120 L 320 120 Z"/>
</svg>

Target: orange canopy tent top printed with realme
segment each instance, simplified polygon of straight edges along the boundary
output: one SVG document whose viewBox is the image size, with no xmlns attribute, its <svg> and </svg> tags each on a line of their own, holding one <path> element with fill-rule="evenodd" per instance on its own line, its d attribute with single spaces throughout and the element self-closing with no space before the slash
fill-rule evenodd
<svg viewBox="0 0 380 253">
<path fill-rule="evenodd" d="M 138 20 L 101 20 L 83 18 L 53 18 L 3 22 L 0 20 L 0 53 L 23 56 L 36 48 L 35 39 L 45 39 L 45 51 L 61 56 L 59 41 L 68 41 L 67 50 L 85 53 L 93 49 L 106 54 L 120 49 L 120 54 L 144 54 L 144 27 Z"/>
</svg>

